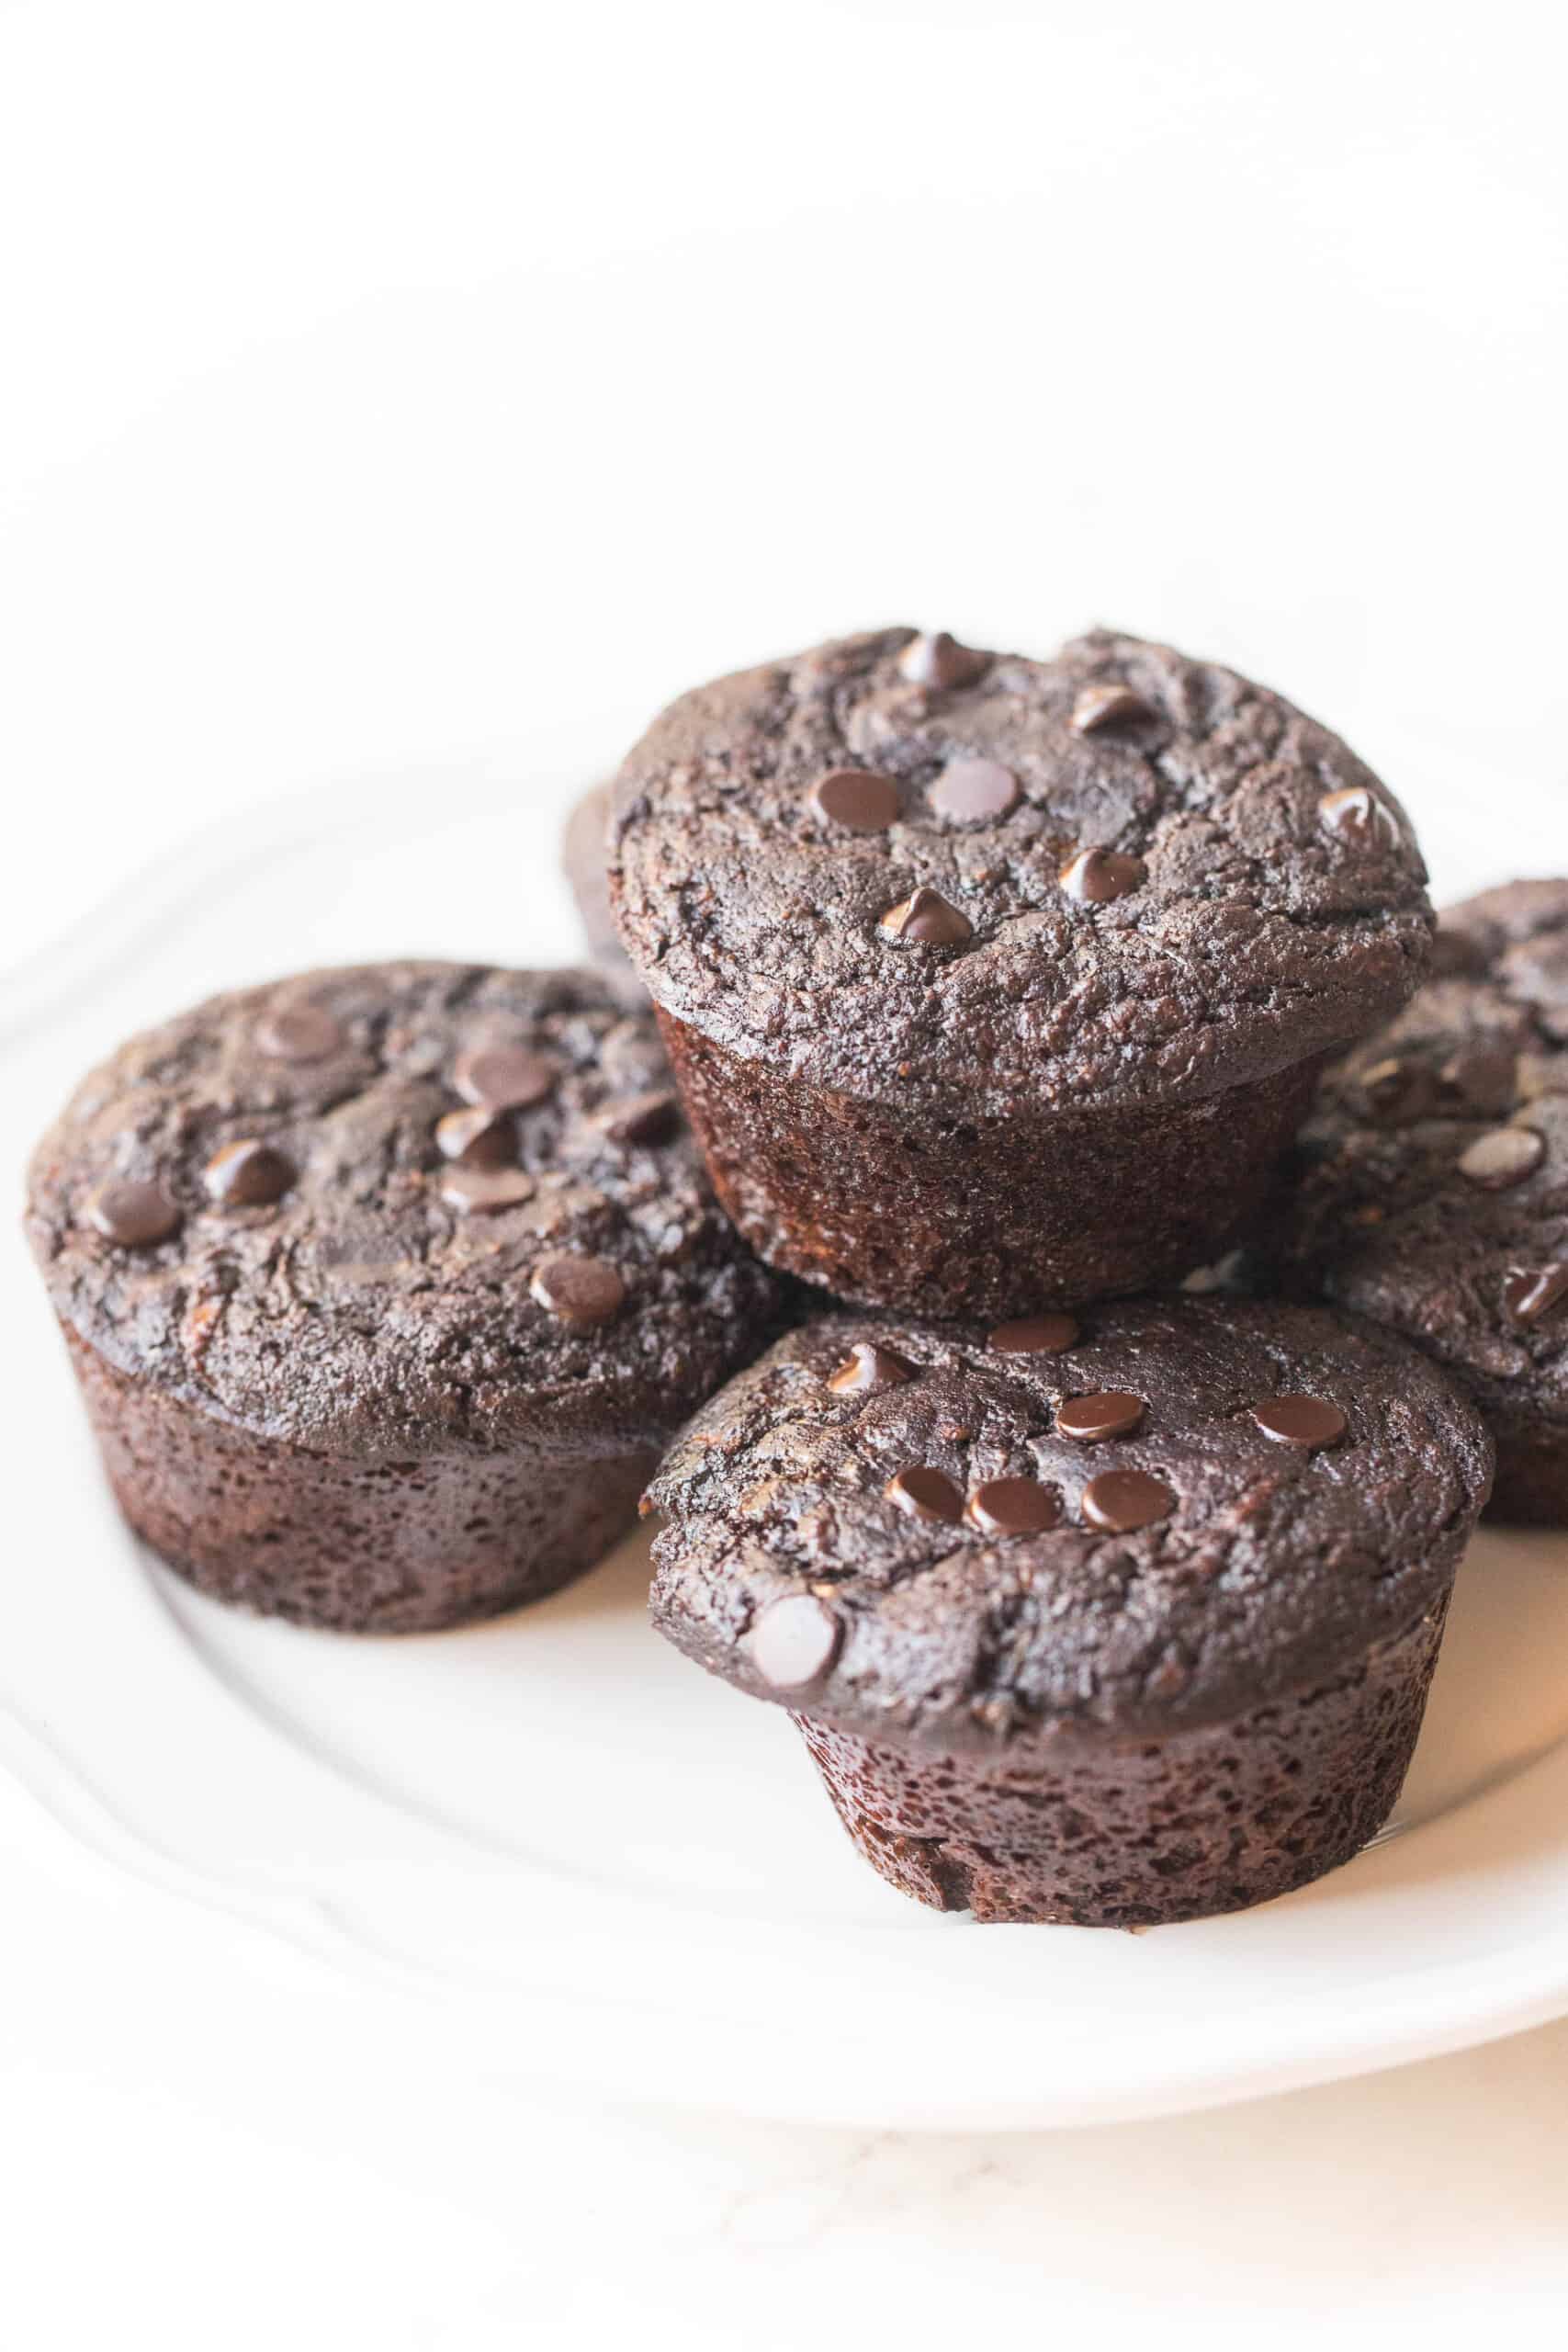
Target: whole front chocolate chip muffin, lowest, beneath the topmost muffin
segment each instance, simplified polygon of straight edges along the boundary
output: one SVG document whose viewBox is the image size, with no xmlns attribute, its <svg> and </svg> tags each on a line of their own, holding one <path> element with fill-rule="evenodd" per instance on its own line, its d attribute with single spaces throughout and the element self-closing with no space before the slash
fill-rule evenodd
<svg viewBox="0 0 1568 2352">
<path fill-rule="evenodd" d="M 654 1623 L 922 1903 L 1197 1919 L 1382 1825 L 1488 1482 L 1441 1371 L 1316 1305 L 823 1317 L 663 1463 Z"/>
</svg>

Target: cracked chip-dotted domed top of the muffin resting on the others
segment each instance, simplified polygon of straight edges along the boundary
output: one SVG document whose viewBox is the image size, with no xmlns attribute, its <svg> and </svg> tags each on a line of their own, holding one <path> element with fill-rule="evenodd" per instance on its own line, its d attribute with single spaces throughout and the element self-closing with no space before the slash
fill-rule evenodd
<svg viewBox="0 0 1568 2352">
<path fill-rule="evenodd" d="M 684 694 L 621 771 L 611 896 L 712 1042 L 987 1112 L 1199 1101 L 1342 1047 L 1432 927 L 1338 736 L 1107 630 L 1025 661 L 889 628 Z"/>
</svg>

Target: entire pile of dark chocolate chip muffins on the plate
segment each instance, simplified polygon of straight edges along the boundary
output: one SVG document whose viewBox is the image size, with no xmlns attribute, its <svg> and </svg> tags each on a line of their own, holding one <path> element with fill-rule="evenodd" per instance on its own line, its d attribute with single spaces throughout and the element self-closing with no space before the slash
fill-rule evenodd
<svg viewBox="0 0 1568 2352">
<path fill-rule="evenodd" d="M 1568 887 L 1434 957 L 1335 736 L 1107 633 L 698 689 L 567 858 L 595 971 L 216 997 L 40 1145 L 129 1522 L 414 1630 L 646 1489 L 656 1628 L 907 1893 L 1138 1926 L 1347 1860 L 1493 1435 L 1568 1515 Z"/>
</svg>

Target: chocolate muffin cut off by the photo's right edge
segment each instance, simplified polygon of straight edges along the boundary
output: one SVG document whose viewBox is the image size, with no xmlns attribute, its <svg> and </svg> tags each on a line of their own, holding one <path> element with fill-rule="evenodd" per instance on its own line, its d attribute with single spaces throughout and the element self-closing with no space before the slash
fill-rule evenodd
<svg viewBox="0 0 1568 2352">
<path fill-rule="evenodd" d="M 1497 1439 L 1493 1515 L 1568 1524 L 1568 882 L 1441 917 L 1436 976 L 1326 1073 L 1265 1254 L 1425 1348 Z"/>
</svg>

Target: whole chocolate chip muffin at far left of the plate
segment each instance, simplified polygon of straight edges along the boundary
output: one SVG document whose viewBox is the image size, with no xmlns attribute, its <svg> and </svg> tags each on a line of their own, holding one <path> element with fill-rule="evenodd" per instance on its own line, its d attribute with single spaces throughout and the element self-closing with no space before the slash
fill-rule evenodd
<svg viewBox="0 0 1568 2352">
<path fill-rule="evenodd" d="M 132 1526 L 360 1632 L 590 1566 L 773 1310 L 651 1016 L 588 971 L 214 997 L 82 1082 L 28 1232 Z"/>
</svg>

